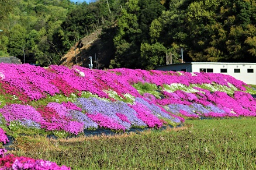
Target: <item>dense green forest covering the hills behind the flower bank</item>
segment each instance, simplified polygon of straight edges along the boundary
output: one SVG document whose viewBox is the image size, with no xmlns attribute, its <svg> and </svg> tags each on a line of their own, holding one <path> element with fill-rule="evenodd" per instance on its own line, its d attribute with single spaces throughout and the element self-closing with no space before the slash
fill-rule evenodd
<svg viewBox="0 0 256 170">
<path fill-rule="evenodd" d="M 254 0 L 0 0 L 0 56 L 48 66 L 101 29 L 108 68 L 167 63 L 255 62 Z"/>
</svg>

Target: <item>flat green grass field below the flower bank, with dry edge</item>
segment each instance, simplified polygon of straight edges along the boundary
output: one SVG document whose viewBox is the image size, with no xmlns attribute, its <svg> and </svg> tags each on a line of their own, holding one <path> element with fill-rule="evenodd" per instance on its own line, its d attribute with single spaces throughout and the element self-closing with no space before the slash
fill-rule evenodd
<svg viewBox="0 0 256 170">
<path fill-rule="evenodd" d="M 120 136 L 22 136 L 13 153 L 72 169 L 256 169 L 256 118 L 185 122 Z"/>
</svg>

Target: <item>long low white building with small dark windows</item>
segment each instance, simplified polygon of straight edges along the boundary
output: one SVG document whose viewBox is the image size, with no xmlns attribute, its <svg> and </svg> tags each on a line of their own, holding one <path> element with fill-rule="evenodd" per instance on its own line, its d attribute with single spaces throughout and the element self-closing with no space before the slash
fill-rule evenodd
<svg viewBox="0 0 256 170">
<path fill-rule="evenodd" d="M 256 63 L 188 62 L 157 66 L 156 70 L 223 73 L 247 84 L 256 85 Z"/>
</svg>

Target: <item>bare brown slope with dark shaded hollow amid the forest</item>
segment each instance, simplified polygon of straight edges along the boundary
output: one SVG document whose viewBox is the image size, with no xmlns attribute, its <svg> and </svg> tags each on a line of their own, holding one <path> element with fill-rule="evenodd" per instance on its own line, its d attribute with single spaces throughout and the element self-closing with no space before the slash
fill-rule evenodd
<svg viewBox="0 0 256 170">
<path fill-rule="evenodd" d="M 102 30 L 96 30 L 89 36 L 82 38 L 74 47 L 65 54 L 60 61 L 60 65 L 72 67 L 74 65 L 89 68 L 88 57 L 92 56 L 94 69 L 108 68 L 110 58 L 114 56 L 113 37 L 102 34 Z"/>
</svg>

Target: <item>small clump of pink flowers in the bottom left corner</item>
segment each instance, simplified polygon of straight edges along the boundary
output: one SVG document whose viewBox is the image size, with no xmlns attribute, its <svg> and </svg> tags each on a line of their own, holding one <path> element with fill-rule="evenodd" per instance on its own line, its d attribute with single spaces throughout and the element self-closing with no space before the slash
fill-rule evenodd
<svg viewBox="0 0 256 170">
<path fill-rule="evenodd" d="M 28 157 L 15 157 L 12 154 L 6 154 L 7 150 L 0 149 L 0 169 L 48 169 L 48 170 L 70 170 L 70 167 L 58 166 L 55 162 L 34 160 Z"/>
</svg>

